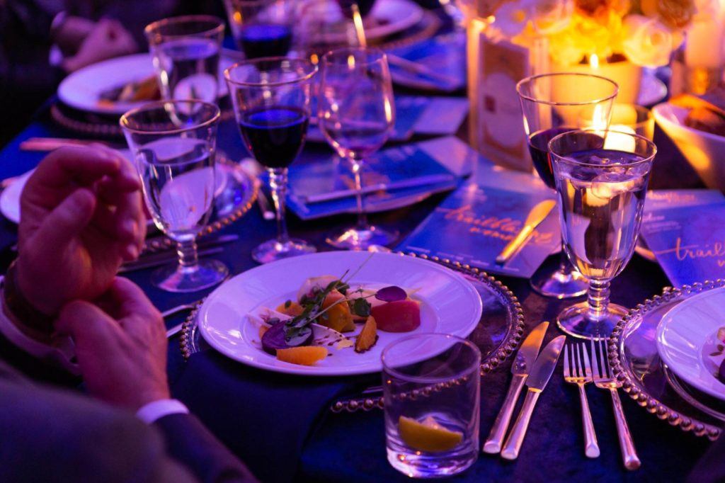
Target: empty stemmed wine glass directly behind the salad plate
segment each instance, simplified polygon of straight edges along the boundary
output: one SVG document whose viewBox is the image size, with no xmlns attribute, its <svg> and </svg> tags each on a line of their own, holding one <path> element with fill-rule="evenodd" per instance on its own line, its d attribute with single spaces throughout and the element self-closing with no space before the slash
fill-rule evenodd
<svg viewBox="0 0 725 483">
<path fill-rule="evenodd" d="M 337 154 L 352 163 L 357 191 L 357 226 L 328 238 L 333 247 L 364 250 L 397 238 L 397 232 L 368 224 L 360 177 L 365 158 L 385 144 L 394 120 L 393 85 L 383 51 L 349 48 L 323 56 L 318 123 Z"/>
</svg>

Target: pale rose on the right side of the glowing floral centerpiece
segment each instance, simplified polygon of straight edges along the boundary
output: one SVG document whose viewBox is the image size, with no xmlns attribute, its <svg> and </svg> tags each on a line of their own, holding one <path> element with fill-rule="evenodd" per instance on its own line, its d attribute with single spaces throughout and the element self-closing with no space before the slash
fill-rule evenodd
<svg viewBox="0 0 725 483">
<path fill-rule="evenodd" d="M 624 20 L 624 54 L 634 64 L 658 67 L 670 62 L 674 39 L 671 31 L 655 18 L 629 15 Z"/>
</svg>

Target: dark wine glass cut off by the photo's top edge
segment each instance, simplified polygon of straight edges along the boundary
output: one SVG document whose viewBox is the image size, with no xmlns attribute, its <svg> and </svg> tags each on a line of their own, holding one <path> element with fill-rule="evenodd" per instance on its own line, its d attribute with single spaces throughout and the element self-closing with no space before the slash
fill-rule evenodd
<svg viewBox="0 0 725 483">
<path fill-rule="evenodd" d="M 283 57 L 292 46 L 294 0 L 224 0 L 232 36 L 247 59 Z"/>
</svg>

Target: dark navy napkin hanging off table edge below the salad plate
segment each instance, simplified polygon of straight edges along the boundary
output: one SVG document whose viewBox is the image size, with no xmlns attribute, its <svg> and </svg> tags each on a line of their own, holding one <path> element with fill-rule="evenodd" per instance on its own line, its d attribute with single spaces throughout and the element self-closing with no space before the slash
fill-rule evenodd
<svg viewBox="0 0 725 483">
<path fill-rule="evenodd" d="M 172 392 L 260 481 L 289 482 L 331 402 L 378 379 L 272 373 L 204 350 L 191 355 Z"/>
</svg>

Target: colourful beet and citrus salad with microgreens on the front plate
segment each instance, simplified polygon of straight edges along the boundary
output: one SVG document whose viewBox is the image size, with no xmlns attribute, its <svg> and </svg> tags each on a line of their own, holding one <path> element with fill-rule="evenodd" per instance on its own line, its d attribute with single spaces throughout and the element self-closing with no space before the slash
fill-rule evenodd
<svg viewBox="0 0 725 483">
<path fill-rule="evenodd" d="M 307 278 L 294 300 L 249 313 L 249 322 L 259 326 L 261 349 L 284 362 L 313 366 L 331 350 L 370 350 L 378 331 L 418 329 L 421 304 L 410 297 L 415 291 L 355 285 L 353 276 Z"/>
</svg>

